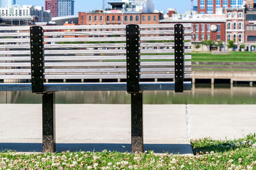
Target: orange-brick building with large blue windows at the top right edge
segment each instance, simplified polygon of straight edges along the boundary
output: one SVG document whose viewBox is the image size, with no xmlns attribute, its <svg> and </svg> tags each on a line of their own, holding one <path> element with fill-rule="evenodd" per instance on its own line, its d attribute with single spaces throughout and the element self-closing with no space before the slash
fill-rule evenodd
<svg viewBox="0 0 256 170">
<path fill-rule="evenodd" d="M 245 0 L 197 0 L 198 13 L 215 14 L 218 9 L 243 8 Z"/>
</svg>

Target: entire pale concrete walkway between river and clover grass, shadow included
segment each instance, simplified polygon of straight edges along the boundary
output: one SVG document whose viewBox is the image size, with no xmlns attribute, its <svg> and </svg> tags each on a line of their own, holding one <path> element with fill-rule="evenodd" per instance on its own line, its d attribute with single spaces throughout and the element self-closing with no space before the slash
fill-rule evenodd
<svg viewBox="0 0 256 170">
<path fill-rule="evenodd" d="M 256 132 L 256 105 L 143 105 L 145 150 L 193 154 L 189 139 Z M 56 104 L 56 150 L 131 150 L 131 106 Z M 42 106 L 0 104 L 0 149 L 42 150 Z"/>
</svg>

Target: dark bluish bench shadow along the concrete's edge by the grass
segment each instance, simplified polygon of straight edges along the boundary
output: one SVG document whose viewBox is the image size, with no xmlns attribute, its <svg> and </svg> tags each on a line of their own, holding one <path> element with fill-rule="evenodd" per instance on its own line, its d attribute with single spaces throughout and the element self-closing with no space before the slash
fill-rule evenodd
<svg viewBox="0 0 256 170">
<path fill-rule="evenodd" d="M 0 143 L 0 151 L 7 150 L 17 152 L 42 152 L 42 143 Z M 70 152 L 90 151 L 102 152 L 111 150 L 117 152 L 131 152 L 131 144 L 120 143 L 56 143 L 56 152 L 70 150 Z M 191 154 L 189 144 L 144 144 L 144 150 L 152 150 L 155 153 Z"/>
</svg>

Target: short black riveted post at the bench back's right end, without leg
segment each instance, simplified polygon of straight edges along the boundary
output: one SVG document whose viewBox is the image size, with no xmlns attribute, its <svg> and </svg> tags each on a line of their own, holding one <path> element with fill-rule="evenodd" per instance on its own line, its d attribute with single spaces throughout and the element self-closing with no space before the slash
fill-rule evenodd
<svg viewBox="0 0 256 170">
<path fill-rule="evenodd" d="M 183 92 L 184 81 L 184 57 L 183 57 L 183 32 L 182 24 L 174 25 L 174 43 L 175 43 L 175 92 Z"/>
</svg>

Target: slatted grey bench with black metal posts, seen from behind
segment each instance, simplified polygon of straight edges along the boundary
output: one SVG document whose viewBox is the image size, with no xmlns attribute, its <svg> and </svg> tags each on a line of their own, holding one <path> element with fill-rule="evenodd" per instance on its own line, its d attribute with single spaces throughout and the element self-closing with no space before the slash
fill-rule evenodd
<svg viewBox="0 0 256 170">
<path fill-rule="evenodd" d="M 191 24 L 0 27 L 0 90 L 42 94 L 43 152 L 55 152 L 55 92 L 127 90 L 143 152 L 143 91 L 191 89 L 190 40 Z"/>
</svg>

